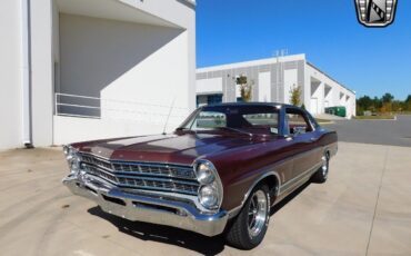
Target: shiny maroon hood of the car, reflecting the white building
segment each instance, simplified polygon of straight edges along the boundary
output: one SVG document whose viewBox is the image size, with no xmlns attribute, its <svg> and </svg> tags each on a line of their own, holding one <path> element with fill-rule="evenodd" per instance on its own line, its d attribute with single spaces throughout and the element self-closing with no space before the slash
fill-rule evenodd
<svg viewBox="0 0 411 256">
<path fill-rule="evenodd" d="M 110 160 L 191 165 L 196 158 L 254 142 L 254 139 L 248 136 L 172 134 L 96 140 L 72 146 L 80 151 Z"/>
</svg>

